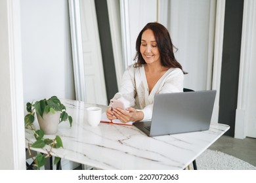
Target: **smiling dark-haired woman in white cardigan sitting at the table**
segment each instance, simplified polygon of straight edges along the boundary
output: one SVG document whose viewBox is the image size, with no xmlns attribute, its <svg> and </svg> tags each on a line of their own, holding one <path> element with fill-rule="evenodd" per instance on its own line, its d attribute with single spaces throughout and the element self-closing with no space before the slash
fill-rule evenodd
<svg viewBox="0 0 256 183">
<path fill-rule="evenodd" d="M 127 108 L 108 107 L 108 119 L 118 118 L 124 123 L 150 120 L 156 93 L 183 91 L 184 72 L 173 48 L 163 25 L 146 24 L 136 41 L 137 62 L 123 73 L 121 89 L 113 98 L 123 101 Z"/>
</svg>

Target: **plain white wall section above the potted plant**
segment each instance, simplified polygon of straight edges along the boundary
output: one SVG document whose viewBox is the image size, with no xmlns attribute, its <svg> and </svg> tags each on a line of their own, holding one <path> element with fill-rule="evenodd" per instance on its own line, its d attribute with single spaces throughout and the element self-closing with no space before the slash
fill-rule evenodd
<svg viewBox="0 0 256 183">
<path fill-rule="evenodd" d="M 24 101 L 75 99 L 68 1 L 22 0 Z"/>
</svg>

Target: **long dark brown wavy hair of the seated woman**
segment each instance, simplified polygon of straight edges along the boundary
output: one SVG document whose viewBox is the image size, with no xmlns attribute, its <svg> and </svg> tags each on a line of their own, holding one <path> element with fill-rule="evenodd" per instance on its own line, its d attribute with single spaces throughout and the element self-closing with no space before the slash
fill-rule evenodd
<svg viewBox="0 0 256 183">
<path fill-rule="evenodd" d="M 146 63 L 146 61 L 142 58 L 142 54 L 140 52 L 140 44 L 142 33 L 144 33 L 144 31 L 146 31 L 147 29 L 151 29 L 154 33 L 154 37 L 158 44 L 158 50 L 160 52 L 161 65 L 169 68 L 180 68 L 182 70 L 181 64 L 177 61 L 177 59 L 174 56 L 173 49 L 177 48 L 173 45 L 173 42 L 171 42 L 171 37 L 169 35 L 168 30 L 163 25 L 157 22 L 151 22 L 146 24 L 145 27 L 140 31 L 136 41 L 137 54 L 134 60 L 137 59 L 137 63 L 134 64 L 134 67 L 141 67 Z"/>
</svg>

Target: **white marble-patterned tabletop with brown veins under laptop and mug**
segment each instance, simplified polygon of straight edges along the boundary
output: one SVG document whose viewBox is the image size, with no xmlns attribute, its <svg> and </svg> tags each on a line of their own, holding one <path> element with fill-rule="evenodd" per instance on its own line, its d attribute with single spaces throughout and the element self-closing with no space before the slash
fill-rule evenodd
<svg viewBox="0 0 256 183">
<path fill-rule="evenodd" d="M 211 124 L 208 131 L 148 137 L 133 125 L 100 123 L 91 127 L 85 121 L 85 108 L 99 106 L 104 111 L 106 107 L 62 102 L 73 125 L 59 124 L 56 135 L 62 138 L 64 148 L 53 149 L 52 155 L 100 169 L 184 169 L 229 129 L 228 125 Z M 37 121 L 34 124 L 39 128 Z M 26 129 L 26 145 L 33 141 L 32 131 Z M 47 148 L 32 149 L 45 152 Z"/>
</svg>

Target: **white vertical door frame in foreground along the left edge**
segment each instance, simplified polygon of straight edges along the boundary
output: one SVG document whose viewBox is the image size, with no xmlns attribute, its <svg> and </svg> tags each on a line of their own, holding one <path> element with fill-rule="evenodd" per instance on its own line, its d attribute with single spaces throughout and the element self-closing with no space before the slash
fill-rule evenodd
<svg viewBox="0 0 256 183">
<path fill-rule="evenodd" d="M 0 1 L 0 169 L 25 169 L 20 1 Z"/>
</svg>

